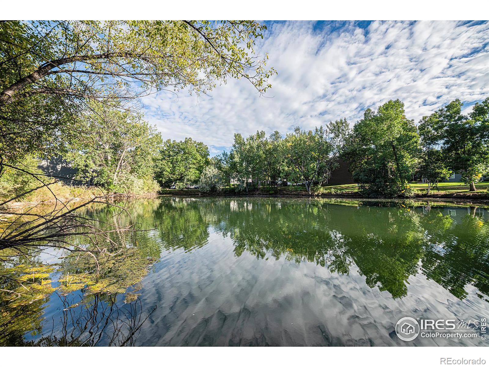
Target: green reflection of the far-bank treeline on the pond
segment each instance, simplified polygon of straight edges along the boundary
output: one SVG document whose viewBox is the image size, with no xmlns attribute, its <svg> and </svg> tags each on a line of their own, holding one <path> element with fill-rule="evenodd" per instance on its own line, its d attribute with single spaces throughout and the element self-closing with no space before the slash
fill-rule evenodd
<svg viewBox="0 0 489 367">
<path fill-rule="evenodd" d="M 163 242 L 171 249 L 191 251 L 205 245 L 212 226 L 232 239 L 236 256 L 285 256 L 339 274 L 349 274 L 356 265 L 370 287 L 386 290 L 393 298 L 406 296 L 409 276 L 420 271 L 458 298 L 467 296 L 467 284 L 488 294 L 488 225 L 476 211 L 455 222 L 436 206 L 424 210 L 396 203 L 346 204 L 163 200 L 157 218 Z"/>
</svg>

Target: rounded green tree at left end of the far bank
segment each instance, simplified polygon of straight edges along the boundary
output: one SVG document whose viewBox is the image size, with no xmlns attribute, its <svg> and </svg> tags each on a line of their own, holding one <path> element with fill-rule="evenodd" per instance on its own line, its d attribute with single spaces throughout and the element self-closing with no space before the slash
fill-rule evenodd
<svg viewBox="0 0 489 367">
<path fill-rule="evenodd" d="M 196 184 L 204 167 L 209 164 L 209 149 L 200 141 L 166 140 L 156 158 L 155 178 L 162 187 L 176 184 L 183 188 Z"/>
</svg>

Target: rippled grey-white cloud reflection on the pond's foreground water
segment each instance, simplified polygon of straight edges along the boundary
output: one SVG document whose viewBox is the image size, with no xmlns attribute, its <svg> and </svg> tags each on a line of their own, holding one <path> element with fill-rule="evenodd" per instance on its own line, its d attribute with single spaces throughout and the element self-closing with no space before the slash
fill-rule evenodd
<svg viewBox="0 0 489 367">
<path fill-rule="evenodd" d="M 144 302 L 157 300 L 159 307 L 142 328 L 141 344 L 399 345 L 404 342 L 392 331 L 401 317 L 466 320 L 480 318 L 487 307 L 474 287 L 460 300 L 420 274 L 409 277 L 406 297 L 393 299 L 370 288 L 355 265 L 349 275 L 339 275 L 285 257 L 236 257 L 216 232 L 209 246 L 168 253 L 162 262 L 167 265 L 144 281 Z M 410 345 L 436 344 L 453 342 L 420 338 Z"/>
</svg>

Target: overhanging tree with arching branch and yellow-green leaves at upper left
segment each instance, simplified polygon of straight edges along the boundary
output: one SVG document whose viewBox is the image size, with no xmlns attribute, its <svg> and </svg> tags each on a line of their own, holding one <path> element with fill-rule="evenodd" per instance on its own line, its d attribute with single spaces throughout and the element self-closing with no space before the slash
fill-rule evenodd
<svg viewBox="0 0 489 367">
<path fill-rule="evenodd" d="M 0 23 L 0 156 L 62 149 L 84 131 L 87 101 L 160 90 L 205 93 L 226 79 L 270 87 L 266 26 L 255 21 L 6 21 Z"/>
</svg>

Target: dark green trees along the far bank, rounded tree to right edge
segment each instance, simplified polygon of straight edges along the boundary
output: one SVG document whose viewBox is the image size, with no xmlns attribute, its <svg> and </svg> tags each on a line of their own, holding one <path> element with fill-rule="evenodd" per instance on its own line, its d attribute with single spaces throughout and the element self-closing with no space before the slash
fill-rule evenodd
<svg viewBox="0 0 489 367">
<path fill-rule="evenodd" d="M 304 184 L 311 193 L 328 181 L 342 158 L 368 195 L 410 196 L 408 183 L 414 178 L 422 178 L 429 192 L 452 172 L 461 173 L 475 190 L 489 173 L 489 98 L 468 115 L 462 106 L 457 99 L 416 126 L 404 104 L 390 100 L 377 112 L 367 109 L 353 129 L 341 118 L 314 130 L 296 127 L 285 136 L 278 131 L 269 137 L 264 131 L 247 138 L 235 134 L 231 150 L 211 159 L 200 142 L 167 140 L 155 177 L 163 187 L 198 184 L 206 191 L 223 186 L 248 191 L 289 181 Z"/>
</svg>

